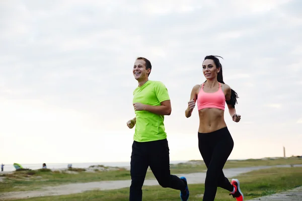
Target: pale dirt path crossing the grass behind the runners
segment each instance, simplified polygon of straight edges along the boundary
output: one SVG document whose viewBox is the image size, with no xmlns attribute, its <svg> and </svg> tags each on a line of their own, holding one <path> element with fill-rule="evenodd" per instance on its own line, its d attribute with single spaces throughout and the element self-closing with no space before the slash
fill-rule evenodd
<svg viewBox="0 0 302 201">
<path fill-rule="evenodd" d="M 243 167 L 243 168 L 230 168 L 224 169 L 224 175 L 228 178 L 233 178 L 242 173 L 250 172 L 258 169 L 266 169 L 271 167 L 290 167 L 289 165 L 277 165 L 277 166 L 258 166 L 258 167 Z M 178 176 L 187 177 L 189 184 L 204 183 L 205 172 L 179 174 Z M 39 196 L 53 196 L 53 195 L 65 195 L 72 193 L 81 193 L 88 190 L 111 190 L 129 187 L 131 180 L 118 180 L 118 181 L 98 181 L 88 183 L 72 183 L 58 186 L 46 186 L 40 190 L 32 191 L 16 191 L 0 194 L 0 200 L 3 199 L 22 199 L 29 197 Z M 157 180 L 145 180 L 144 185 L 159 185 Z"/>
</svg>

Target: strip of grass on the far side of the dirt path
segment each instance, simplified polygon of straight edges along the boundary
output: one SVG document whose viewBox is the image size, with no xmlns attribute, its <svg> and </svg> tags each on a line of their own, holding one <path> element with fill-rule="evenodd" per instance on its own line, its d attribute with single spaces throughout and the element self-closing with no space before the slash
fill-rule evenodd
<svg viewBox="0 0 302 201">
<path fill-rule="evenodd" d="M 302 164 L 302 159 L 297 157 L 279 158 L 279 159 L 249 159 L 249 160 L 230 160 L 227 161 L 224 168 L 234 167 L 251 167 L 264 165 L 290 165 Z M 171 165 L 171 173 L 192 173 L 206 171 L 203 161 L 189 161 L 188 163 L 180 163 Z M 8 191 L 24 191 L 39 189 L 41 186 L 54 186 L 67 183 L 80 183 L 91 181 L 106 180 L 125 180 L 130 179 L 130 172 L 124 168 L 110 171 L 94 171 L 87 172 L 85 169 L 73 168 L 72 171 L 47 171 L 27 170 L 15 171 L 12 174 L 0 175 L 0 192 Z M 155 179 L 154 175 L 148 170 L 146 179 Z"/>
</svg>

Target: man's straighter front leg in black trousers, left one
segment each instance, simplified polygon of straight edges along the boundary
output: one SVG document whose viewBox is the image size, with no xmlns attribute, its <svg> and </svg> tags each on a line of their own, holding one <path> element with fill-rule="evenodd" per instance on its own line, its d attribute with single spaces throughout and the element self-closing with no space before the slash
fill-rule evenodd
<svg viewBox="0 0 302 201">
<path fill-rule="evenodd" d="M 133 142 L 131 162 L 130 162 L 130 174 L 131 174 L 131 185 L 130 185 L 130 201 L 141 201 L 143 181 L 146 176 L 148 169 L 147 156 L 145 152 L 144 142 Z"/>
</svg>

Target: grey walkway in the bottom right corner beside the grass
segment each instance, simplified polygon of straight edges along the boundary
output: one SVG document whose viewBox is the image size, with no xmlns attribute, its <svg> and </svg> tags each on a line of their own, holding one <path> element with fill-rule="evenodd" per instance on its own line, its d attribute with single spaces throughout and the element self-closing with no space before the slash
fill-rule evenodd
<svg viewBox="0 0 302 201">
<path fill-rule="evenodd" d="M 254 199 L 251 199 L 251 200 L 248 200 L 248 201 L 252 201 L 252 200 L 300 201 L 300 200 L 302 200 L 302 186 L 291 189 L 291 190 L 288 190 L 288 191 L 272 194 L 272 195 L 257 197 L 257 198 L 254 198 Z"/>
</svg>

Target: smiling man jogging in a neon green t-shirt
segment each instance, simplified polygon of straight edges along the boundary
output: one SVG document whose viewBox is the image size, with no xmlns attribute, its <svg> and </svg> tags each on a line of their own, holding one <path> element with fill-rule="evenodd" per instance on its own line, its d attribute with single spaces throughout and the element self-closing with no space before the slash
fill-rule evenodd
<svg viewBox="0 0 302 201">
<path fill-rule="evenodd" d="M 135 117 L 127 122 L 135 132 L 132 144 L 130 174 L 130 201 L 142 200 L 142 185 L 148 166 L 162 187 L 180 190 L 182 201 L 189 198 L 185 177 L 170 173 L 170 158 L 164 116 L 171 114 L 168 90 L 161 81 L 148 80 L 152 65 L 143 57 L 138 57 L 133 66 L 134 78 L 138 86 L 133 91 Z"/>
</svg>

